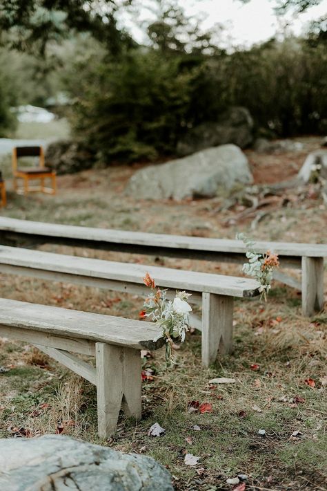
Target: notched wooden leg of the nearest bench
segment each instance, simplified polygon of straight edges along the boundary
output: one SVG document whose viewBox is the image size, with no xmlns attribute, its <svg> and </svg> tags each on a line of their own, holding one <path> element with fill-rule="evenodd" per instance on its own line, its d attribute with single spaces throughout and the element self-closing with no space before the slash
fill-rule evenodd
<svg viewBox="0 0 327 491">
<path fill-rule="evenodd" d="M 108 438 L 117 427 L 122 402 L 128 416 L 141 418 L 141 357 L 135 349 L 96 343 L 95 358 L 98 432 Z"/>
</svg>

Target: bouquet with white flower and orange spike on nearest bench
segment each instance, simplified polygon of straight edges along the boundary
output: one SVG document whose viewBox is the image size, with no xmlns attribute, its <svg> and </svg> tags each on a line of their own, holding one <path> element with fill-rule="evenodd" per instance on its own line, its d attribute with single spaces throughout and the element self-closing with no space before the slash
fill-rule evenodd
<svg viewBox="0 0 327 491">
<path fill-rule="evenodd" d="M 149 273 L 143 278 L 144 284 L 150 288 L 150 294 L 144 300 L 143 311 L 140 317 L 148 317 L 161 327 L 161 333 L 155 338 L 166 338 L 166 367 L 174 363 L 172 346 L 175 342 L 184 342 L 186 332 L 189 331 L 189 317 L 191 306 L 186 302 L 190 293 L 177 292 L 171 301 L 167 299 L 167 290 L 156 288 L 155 280 Z"/>
</svg>

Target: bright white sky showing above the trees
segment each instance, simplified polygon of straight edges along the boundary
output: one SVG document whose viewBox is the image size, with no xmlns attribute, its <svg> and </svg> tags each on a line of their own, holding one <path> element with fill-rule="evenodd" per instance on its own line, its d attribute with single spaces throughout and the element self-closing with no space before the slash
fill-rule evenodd
<svg viewBox="0 0 327 491">
<path fill-rule="evenodd" d="M 203 28 L 223 24 L 224 34 L 221 35 L 219 44 L 225 48 L 251 46 L 264 41 L 273 37 L 277 30 L 283 30 L 286 24 L 289 33 L 300 35 L 310 21 L 327 13 L 327 0 L 322 0 L 320 5 L 311 7 L 302 14 L 288 12 L 281 19 L 277 19 L 273 10 L 276 5 L 274 0 L 250 0 L 245 5 L 238 0 L 179 0 L 177 3 L 184 8 L 186 15 L 201 17 Z M 135 19 L 131 16 L 124 21 L 139 42 L 145 40 L 140 28 L 141 21 L 148 21 L 153 17 L 147 8 L 150 4 L 151 0 L 143 0 L 140 17 Z"/>
</svg>

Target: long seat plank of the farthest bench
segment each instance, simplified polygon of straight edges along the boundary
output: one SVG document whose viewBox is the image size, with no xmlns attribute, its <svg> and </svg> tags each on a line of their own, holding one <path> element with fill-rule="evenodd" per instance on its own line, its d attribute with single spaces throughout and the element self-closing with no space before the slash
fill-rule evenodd
<svg viewBox="0 0 327 491">
<path fill-rule="evenodd" d="M 77 225 L 61 225 L 57 223 L 10 219 L 6 217 L 0 217 L 0 230 L 43 236 L 46 239 L 48 237 L 57 237 L 58 239 L 78 239 L 84 241 L 84 246 L 87 246 L 88 241 L 102 241 L 113 244 L 143 246 L 144 248 L 150 246 L 177 250 L 186 249 L 222 253 L 231 252 L 234 254 L 244 253 L 246 251 L 244 243 L 238 240 L 90 228 Z M 90 245 L 90 247 L 92 246 Z M 272 250 L 280 256 L 327 257 L 326 244 L 256 241 L 255 249 L 257 252 Z"/>
</svg>

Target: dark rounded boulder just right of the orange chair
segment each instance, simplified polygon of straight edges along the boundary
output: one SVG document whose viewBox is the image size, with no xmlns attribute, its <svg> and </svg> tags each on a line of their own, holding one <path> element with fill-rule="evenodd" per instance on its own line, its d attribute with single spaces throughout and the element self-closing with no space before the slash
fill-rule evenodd
<svg viewBox="0 0 327 491">
<path fill-rule="evenodd" d="M 57 140 L 46 149 L 46 165 L 57 174 L 74 174 L 90 169 L 94 163 L 95 155 L 80 142 Z"/>
</svg>

